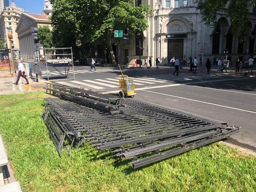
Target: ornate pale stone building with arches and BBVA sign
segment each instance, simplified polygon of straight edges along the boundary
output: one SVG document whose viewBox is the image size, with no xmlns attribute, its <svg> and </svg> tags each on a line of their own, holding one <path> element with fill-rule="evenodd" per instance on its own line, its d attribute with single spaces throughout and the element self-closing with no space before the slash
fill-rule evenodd
<svg viewBox="0 0 256 192">
<path fill-rule="evenodd" d="M 188 57 L 202 57 L 213 61 L 216 56 L 228 57 L 234 62 L 238 57 L 247 61 L 256 51 L 255 26 L 256 9 L 249 7 L 248 23 L 250 30 L 239 41 L 230 32 L 231 24 L 226 17 L 226 9 L 217 12 L 217 28 L 207 26 L 202 21 L 200 10 L 196 9 L 196 0 L 142 0 L 153 9 L 148 19 L 149 28 L 143 33 L 144 57 L 154 61 L 160 57 L 160 65 L 166 65 L 172 57 L 187 60 Z M 200 50 L 204 49 L 204 53 Z M 224 49 L 228 49 L 228 54 Z"/>
</svg>

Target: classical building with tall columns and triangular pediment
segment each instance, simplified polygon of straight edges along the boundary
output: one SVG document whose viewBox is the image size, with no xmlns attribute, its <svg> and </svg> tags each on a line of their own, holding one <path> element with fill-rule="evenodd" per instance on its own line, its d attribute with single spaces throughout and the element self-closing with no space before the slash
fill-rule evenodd
<svg viewBox="0 0 256 192">
<path fill-rule="evenodd" d="M 20 57 L 26 60 L 34 60 L 34 43 L 32 40 L 31 27 L 48 26 L 50 29 L 50 15 L 22 13 L 16 32 L 20 42 Z"/>
</svg>

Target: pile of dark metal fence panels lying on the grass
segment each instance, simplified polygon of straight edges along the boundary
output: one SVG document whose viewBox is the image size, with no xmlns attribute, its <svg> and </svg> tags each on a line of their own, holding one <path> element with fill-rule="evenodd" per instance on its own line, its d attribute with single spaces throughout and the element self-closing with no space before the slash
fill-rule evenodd
<svg viewBox="0 0 256 192">
<path fill-rule="evenodd" d="M 69 86 L 51 84 L 47 91 L 59 97 L 45 99 L 42 118 L 60 156 L 62 147 L 69 154 L 86 141 L 98 150 L 113 149 L 117 158 L 131 159 L 136 169 L 239 131 L 225 123 Z"/>
</svg>

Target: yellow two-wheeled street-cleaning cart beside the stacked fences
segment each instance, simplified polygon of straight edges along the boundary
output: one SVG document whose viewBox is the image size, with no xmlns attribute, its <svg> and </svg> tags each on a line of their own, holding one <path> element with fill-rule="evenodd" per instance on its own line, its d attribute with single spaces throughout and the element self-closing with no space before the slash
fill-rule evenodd
<svg viewBox="0 0 256 192">
<path fill-rule="evenodd" d="M 119 80 L 119 87 L 122 88 L 122 91 L 119 91 L 119 97 L 133 97 L 136 95 L 134 92 L 134 80 L 128 79 L 127 75 L 119 75 L 121 80 Z"/>
</svg>

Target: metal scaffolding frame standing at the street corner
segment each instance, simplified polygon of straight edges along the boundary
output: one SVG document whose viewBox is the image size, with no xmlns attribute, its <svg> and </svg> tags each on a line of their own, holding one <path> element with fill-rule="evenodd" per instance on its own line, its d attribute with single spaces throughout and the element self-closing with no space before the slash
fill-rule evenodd
<svg viewBox="0 0 256 192">
<path fill-rule="evenodd" d="M 56 50 L 62 50 L 63 53 L 62 54 L 48 54 L 49 50 L 55 51 Z M 70 53 L 65 53 L 65 50 L 70 50 Z M 50 71 L 48 70 L 48 64 L 63 64 L 64 63 L 64 70 L 65 73 L 62 73 L 61 71 L 59 71 L 55 66 L 53 66 L 54 69 L 56 69 L 63 77 L 67 78 L 67 79 L 75 79 L 75 71 L 74 71 L 74 62 L 73 62 L 73 51 L 72 51 L 72 47 L 68 47 L 68 48 L 43 48 L 43 54 L 45 56 L 45 63 L 46 63 L 46 72 L 47 72 L 47 80 L 49 81 L 49 76 L 50 76 Z M 65 56 L 62 59 L 56 59 L 58 56 Z M 67 63 L 67 66 L 66 66 Z M 40 70 L 41 70 L 41 78 L 43 78 L 42 75 L 42 61 L 40 60 Z M 69 77 L 69 71 L 73 72 L 73 77 Z M 57 80 L 63 80 L 63 79 L 54 79 L 55 81 Z"/>
</svg>

